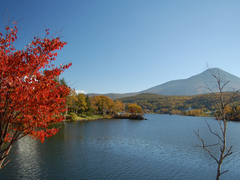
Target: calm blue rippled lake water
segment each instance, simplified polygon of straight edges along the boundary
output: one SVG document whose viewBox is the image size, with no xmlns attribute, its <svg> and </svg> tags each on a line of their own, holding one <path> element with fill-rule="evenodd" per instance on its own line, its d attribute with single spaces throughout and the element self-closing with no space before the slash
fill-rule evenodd
<svg viewBox="0 0 240 180">
<path fill-rule="evenodd" d="M 218 131 L 216 120 L 145 117 L 61 123 L 60 132 L 44 144 L 26 137 L 12 149 L 0 179 L 215 179 L 216 163 L 196 147 L 200 141 L 193 130 L 215 142 L 205 120 Z M 229 172 L 221 179 L 240 179 L 240 123 L 228 123 L 227 141 L 233 154 L 224 161 L 222 170 Z"/>
</svg>

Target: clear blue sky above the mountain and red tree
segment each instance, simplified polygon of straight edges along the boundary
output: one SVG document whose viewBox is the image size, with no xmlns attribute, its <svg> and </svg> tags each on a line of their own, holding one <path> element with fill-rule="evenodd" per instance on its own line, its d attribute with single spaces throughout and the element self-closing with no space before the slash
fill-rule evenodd
<svg viewBox="0 0 240 180">
<path fill-rule="evenodd" d="M 19 49 L 62 29 L 55 64 L 72 62 L 61 77 L 77 92 L 139 92 L 207 63 L 240 77 L 238 0 L 8 0 L 0 12 L 19 21 Z"/>
</svg>

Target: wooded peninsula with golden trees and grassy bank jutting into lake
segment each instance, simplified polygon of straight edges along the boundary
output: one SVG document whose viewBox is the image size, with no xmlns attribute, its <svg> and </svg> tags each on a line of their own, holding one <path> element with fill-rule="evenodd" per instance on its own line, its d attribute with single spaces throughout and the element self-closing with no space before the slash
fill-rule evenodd
<svg viewBox="0 0 240 180">
<path fill-rule="evenodd" d="M 143 110 L 135 103 L 123 103 L 120 100 L 99 95 L 91 96 L 71 91 L 66 98 L 66 122 L 92 121 L 98 119 L 146 120 Z"/>
</svg>

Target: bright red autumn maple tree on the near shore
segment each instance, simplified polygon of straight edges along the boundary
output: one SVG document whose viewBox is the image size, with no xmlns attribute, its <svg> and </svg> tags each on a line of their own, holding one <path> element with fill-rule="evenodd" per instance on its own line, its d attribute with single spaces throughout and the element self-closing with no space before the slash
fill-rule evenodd
<svg viewBox="0 0 240 180">
<path fill-rule="evenodd" d="M 56 50 L 66 42 L 49 36 L 34 40 L 22 50 L 13 46 L 17 39 L 17 23 L 0 33 L 0 168 L 8 162 L 12 145 L 26 135 L 44 142 L 58 129 L 50 123 L 64 119 L 66 96 L 70 89 L 54 78 L 71 64 L 55 67 Z M 44 71 L 43 71 L 44 70 Z"/>
</svg>

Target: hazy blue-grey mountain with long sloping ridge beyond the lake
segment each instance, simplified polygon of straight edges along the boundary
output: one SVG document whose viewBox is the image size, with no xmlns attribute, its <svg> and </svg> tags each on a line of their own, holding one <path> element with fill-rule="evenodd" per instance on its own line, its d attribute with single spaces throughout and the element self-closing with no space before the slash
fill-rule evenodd
<svg viewBox="0 0 240 180">
<path fill-rule="evenodd" d="M 194 75 L 187 79 L 179 79 L 173 80 L 161 85 L 154 86 L 152 88 L 146 89 L 144 91 L 136 92 L 136 93 L 126 93 L 126 94 L 103 94 L 110 98 L 123 98 L 133 95 L 138 95 L 142 93 L 154 93 L 159 95 L 169 95 L 169 96 L 190 96 L 190 95 L 198 95 L 198 94 L 206 94 L 210 93 L 208 86 L 212 91 L 218 92 L 216 87 L 216 79 L 212 76 L 210 71 L 214 74 L 219 73 L 222 79 L 222 83 L 229 81 L 229 83 L 225 86 L 223 91 L 232 91 L 240 89 L 240 78 L 234 76 L 226 71 L 223 71 L 219 68 L 211 68 L 200 74 Z"/>
</svg>

